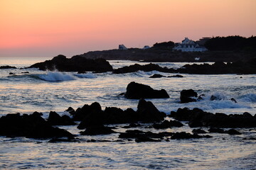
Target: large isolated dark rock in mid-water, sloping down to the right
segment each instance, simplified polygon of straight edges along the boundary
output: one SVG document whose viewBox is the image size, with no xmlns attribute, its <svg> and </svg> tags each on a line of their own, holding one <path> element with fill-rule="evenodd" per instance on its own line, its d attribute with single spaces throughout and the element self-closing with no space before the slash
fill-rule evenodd
<svg viewBox="0 0 256 170">
<path fill-rule="evenodd" d="M 127 86 L 127 92 L 124 95 L 129 99 L 139 98 L 169 98 L 169 95 L 164 89 L 154 90 L 150 86 L 138 84 L 132 81 Z"/>
</svg>

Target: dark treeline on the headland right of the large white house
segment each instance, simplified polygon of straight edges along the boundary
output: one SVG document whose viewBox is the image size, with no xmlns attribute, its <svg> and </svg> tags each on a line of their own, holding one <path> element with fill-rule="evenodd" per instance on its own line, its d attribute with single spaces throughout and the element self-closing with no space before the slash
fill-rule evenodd
<svg viewBox="0 0 256 170">
<path fill-rule="evenodd" d="M 241 36 L 215 37 L 208 40 L 205 47 L 210 51 L 256 50 L 256 37 Z"/>
</svg>

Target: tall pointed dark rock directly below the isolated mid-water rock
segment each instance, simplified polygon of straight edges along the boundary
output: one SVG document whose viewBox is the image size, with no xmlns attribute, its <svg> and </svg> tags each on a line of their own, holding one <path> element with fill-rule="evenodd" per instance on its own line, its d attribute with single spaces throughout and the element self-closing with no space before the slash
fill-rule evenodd
<svg viewBox="0 0 256 170">
<path fill-rule="evenodd" d="M 165 113 L 160 112 L 151 101 L 145 101 L 143 98 L 139 100 L 137 106 L 137 116 L 140 121 L 159 122 L 166 117 Z"/>
</svg>

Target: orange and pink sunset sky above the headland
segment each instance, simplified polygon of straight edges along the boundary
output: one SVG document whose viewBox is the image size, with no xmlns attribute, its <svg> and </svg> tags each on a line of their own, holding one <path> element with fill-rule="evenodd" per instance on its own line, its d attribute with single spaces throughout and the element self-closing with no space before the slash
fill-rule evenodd
<svg viewBox="0 0 256 170">
<path fill-rule="evenodd" d="M 256 0 L 0 0 L 0 57 L 256 35 Z"/>
</svg>

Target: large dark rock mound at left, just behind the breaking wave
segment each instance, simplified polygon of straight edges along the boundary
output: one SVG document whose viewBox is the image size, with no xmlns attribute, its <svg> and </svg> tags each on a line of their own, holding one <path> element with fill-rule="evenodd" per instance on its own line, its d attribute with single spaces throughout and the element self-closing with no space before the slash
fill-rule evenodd
<svg viewBox="0 0 256 170">
<path fill-rule="evenodd" d="M 112 66 L 105 59 L 92 60 L 80 56 L 68 59 L 64 55 L 53 57 L 53 60 L 33 64 L 28 68 L 38 68 L 44 71 L 57 69 L 59 72 L 112 72 Z"/>
</svg>

